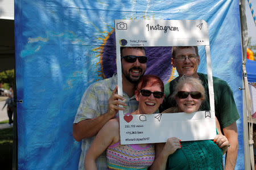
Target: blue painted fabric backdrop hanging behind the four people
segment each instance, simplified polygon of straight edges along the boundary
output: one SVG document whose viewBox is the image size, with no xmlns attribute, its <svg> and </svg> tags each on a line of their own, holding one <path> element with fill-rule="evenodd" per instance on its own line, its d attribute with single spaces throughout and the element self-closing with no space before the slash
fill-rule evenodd
<svg viewBox="0 0 256 170">
<path fill-rule="evenodd" d="M 242 56 L 238 0 L 15 1 L 19 169 L 77 169 L 80 142 L 73 120 L 89 84 L 116 70 L 114 19 L 204 19 L 213 75 L 226 80 L 242 117 Z M 168 54 L 170 49 L 159 50 Z M 158 51 L 151 51 L 157 57 Z M 206 73 L 204 48 L 199 71 Z M 168 55 L 147 73 L 172 73 Z M 164 60 L 164 61 L 163 61 Z M 150 63 L 148 63 L 150 65 Z M 157 70 L 157 72 L 155 72 Z M 154 72 L 152 72 L 154 71 Z M 236 169 L 243 169 L 242 118 Z"/>
</svg>

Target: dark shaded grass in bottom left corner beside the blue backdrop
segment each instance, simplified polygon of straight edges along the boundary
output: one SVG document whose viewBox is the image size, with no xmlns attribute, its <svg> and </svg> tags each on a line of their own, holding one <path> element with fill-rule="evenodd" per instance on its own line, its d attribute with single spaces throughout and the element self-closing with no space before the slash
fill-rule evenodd
<svg viewBox="0 0 256 170">
<path fill-rule="evenodd" d="M 13 127 L 0 129 L 0 164 L 1 169 L 13 167 Z"/>
</svg>

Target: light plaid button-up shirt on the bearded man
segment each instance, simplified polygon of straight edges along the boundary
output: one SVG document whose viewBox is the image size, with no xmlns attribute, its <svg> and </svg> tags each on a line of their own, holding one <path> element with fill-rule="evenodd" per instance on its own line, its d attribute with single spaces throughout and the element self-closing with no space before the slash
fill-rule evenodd
<svg viewBox="0 0 256 170">
<path fill-rule="evenodd" d="M 101 80 L 90 85 L 82 96 L 81 103 L 77 109 L 74 124 L 89 118 L 95 118 L 108 112 L 108 100 L 117 85 L 117 74 L 112 78 Z M 127 104 L 124 113 L 134 112 L 138 108 L 138 102 L 135 96 L 129 97 L 123 92 L 124 102 Z M 82 139 L 81 156 L 79 161 L 79 169 L 84 170 L 84 158 L 94 137 Z M 106 152 L 101 154 L 96 160 L 97 169 L 106 169 Z"/>
</svg>

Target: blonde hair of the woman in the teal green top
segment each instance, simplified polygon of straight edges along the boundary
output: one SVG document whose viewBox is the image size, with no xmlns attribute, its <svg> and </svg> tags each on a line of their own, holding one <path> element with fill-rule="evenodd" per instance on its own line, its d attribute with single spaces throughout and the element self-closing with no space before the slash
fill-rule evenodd
<svg viewBox="0 0 256 170">
<path fill-rule="evenodd" d="M 177 92 L 179 92 L 184 86 L 187 86 L 187 84 L 191 85 L 193 88 L 196 88 L 196 91 L 199 91 L 202 95 L 201 99 L 205 99 L 205 90 L 203 84 L 201 83 L 201 80 L 187 75 L 181 76 L 181 78 L 175 84 L 172 99 L 175 99 Z"/>
</svg>

